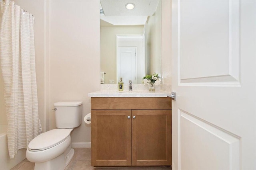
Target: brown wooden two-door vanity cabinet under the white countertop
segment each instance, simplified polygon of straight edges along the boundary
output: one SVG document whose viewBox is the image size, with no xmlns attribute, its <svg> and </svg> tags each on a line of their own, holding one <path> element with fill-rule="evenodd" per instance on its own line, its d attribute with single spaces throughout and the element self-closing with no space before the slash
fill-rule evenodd
<svg viewBox="0 0 256 170">
<path fill-rule="evenodd" d="M 93 166 L 171 165 L 170 98 L 92 97 L 91 109 Z"/>
</svg>

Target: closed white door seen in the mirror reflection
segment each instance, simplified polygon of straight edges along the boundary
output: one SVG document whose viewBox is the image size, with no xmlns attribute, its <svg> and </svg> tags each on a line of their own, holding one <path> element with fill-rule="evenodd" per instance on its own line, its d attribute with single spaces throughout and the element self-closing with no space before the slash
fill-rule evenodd
<svg viewBox="0 0 256 170">
<path fill-rule="evenodd" d="M 122 77 L 124 84 L 137 83 L 137 58 L 136 47 L 118 47 L 117 78 Z"/>
</svg>

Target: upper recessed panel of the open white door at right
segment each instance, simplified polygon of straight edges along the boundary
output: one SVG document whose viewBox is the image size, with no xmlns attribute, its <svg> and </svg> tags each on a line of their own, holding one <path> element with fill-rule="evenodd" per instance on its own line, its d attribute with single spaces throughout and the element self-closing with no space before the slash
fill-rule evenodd
<svg viewBox="0 0 256 170">
<path fill-rule="evenodd" d="M 180 1 L 178 10 L 180 85 L 240 86 L 239 1 Z"/>
</svg>

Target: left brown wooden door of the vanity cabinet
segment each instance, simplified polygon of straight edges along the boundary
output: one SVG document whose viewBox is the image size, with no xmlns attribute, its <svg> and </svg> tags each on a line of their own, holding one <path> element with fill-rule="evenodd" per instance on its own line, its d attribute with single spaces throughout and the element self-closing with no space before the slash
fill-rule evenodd
<svg viewBox="0 0 256 170">
<path fill-rule="evenodd" d="M 92 110 L 92 165 L 131 165 L 131 110 Z"/>
</svg>

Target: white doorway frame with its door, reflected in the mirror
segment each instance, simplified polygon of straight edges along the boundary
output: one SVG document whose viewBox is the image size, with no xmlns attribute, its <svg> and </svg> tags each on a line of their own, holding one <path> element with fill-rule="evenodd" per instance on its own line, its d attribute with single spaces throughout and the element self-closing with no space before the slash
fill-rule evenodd
<svg viewBox="0 0 256 170">
<path fill-rule="evenodd" d="M 146 73 L 145 50 L 143 35 L 116 35 L 116 82 L 122 77 L 125 84 L 129 80 L 133 84 L 142 83 L 140 79 Z"/>
</svg>

